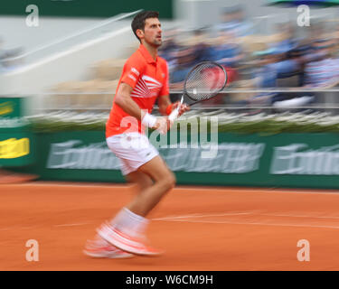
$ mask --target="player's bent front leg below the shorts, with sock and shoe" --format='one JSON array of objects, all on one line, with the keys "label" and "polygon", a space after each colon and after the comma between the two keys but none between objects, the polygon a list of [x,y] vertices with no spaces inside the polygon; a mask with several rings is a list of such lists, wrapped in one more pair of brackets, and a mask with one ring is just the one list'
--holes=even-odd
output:
[{"label": "player's bent front leg below the shorts, with sock and shoe", "polygon": [[[156,155],[141,165],[137,173],[128,175],[137,178],[139,182],[143,180],[144,184],[146,183],[144,190],[141,190],[125,208],[120,210],[114,219],[103,224],[98,233],[110,244],[129,253],[159,255],[161,252],[144,243],[149,223],[145,216],[164,197],[165,193],[174,187],[174,174],[168,169],[163,159]],[[148,179],[145,175],[154,181],[151,186],[148,186],[150,182],[146,181]]]}]

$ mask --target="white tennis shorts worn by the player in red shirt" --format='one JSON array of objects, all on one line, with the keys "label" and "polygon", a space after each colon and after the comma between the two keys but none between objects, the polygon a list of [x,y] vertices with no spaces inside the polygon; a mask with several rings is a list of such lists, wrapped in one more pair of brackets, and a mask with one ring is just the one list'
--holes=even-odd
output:
[{"label": "white tennis shorts worn by the player in red shirt", "polygon": [[120,159],[121,172],[127,175],[152,160],[159,152],[146,135],[126,133],[106,139],[109,149]]}]

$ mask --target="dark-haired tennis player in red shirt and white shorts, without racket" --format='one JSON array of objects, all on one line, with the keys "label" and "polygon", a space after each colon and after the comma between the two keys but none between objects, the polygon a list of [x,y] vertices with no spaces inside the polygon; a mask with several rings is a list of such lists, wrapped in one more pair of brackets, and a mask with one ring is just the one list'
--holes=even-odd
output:
[{"label": "dark-haired tennis player in red shirt and white shorts, without racket", "polygon": [[[179,102],[171,103],[167,63],[157,56],[162,44],[158,16],[157,12],[144,11],[133,19],[132,30],[140,46],[124,66],[106,126],[108,147],[120,159],[127,182],[137,183],[139,193],[115,218],[97,229],[96,238],[86,244],[84,252],[89,256],[161,253],[146,245],[146,216],[174,187],[175,177],[149,143],[145,129],[148,126],[165,134],[172,125],[168,116]],[[151,115],[156,100],[165,117]],[[185,104],[180,106],[179,116],[188,109]]]}]

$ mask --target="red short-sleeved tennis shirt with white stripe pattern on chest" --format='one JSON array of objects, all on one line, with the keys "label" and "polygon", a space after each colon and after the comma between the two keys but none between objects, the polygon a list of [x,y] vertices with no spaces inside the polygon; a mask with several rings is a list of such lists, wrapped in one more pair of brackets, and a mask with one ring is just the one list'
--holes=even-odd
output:
[{"label": "red short-sleeved tennis shirt with white stripe pattern on chest", "polygon": [[[154,60],[146,47],[140,44],[138,50],[124,65],[116,94],[121,82],[133,88],[131,98],[137,105],[151,113],[156,98],[169,95],[167,62],[159,56]],[[140,120],[128,115],[113,100],[113,107],[106,124],[106,137],[120,135],[127,131],[144,133],[145,127],[141,125]]]}]

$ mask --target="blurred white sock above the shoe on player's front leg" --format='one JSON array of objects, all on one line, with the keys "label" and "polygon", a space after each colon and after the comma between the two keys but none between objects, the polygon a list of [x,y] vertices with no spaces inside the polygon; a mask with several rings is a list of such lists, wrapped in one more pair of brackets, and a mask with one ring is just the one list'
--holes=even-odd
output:
[{"label": "blurred white sock above the shoe on player's front leg", "polygon": [[149,220],[135,214],[127,208],[123,208],[110,223],[114,228],[131,237],[141,237],[146,231]]}]

